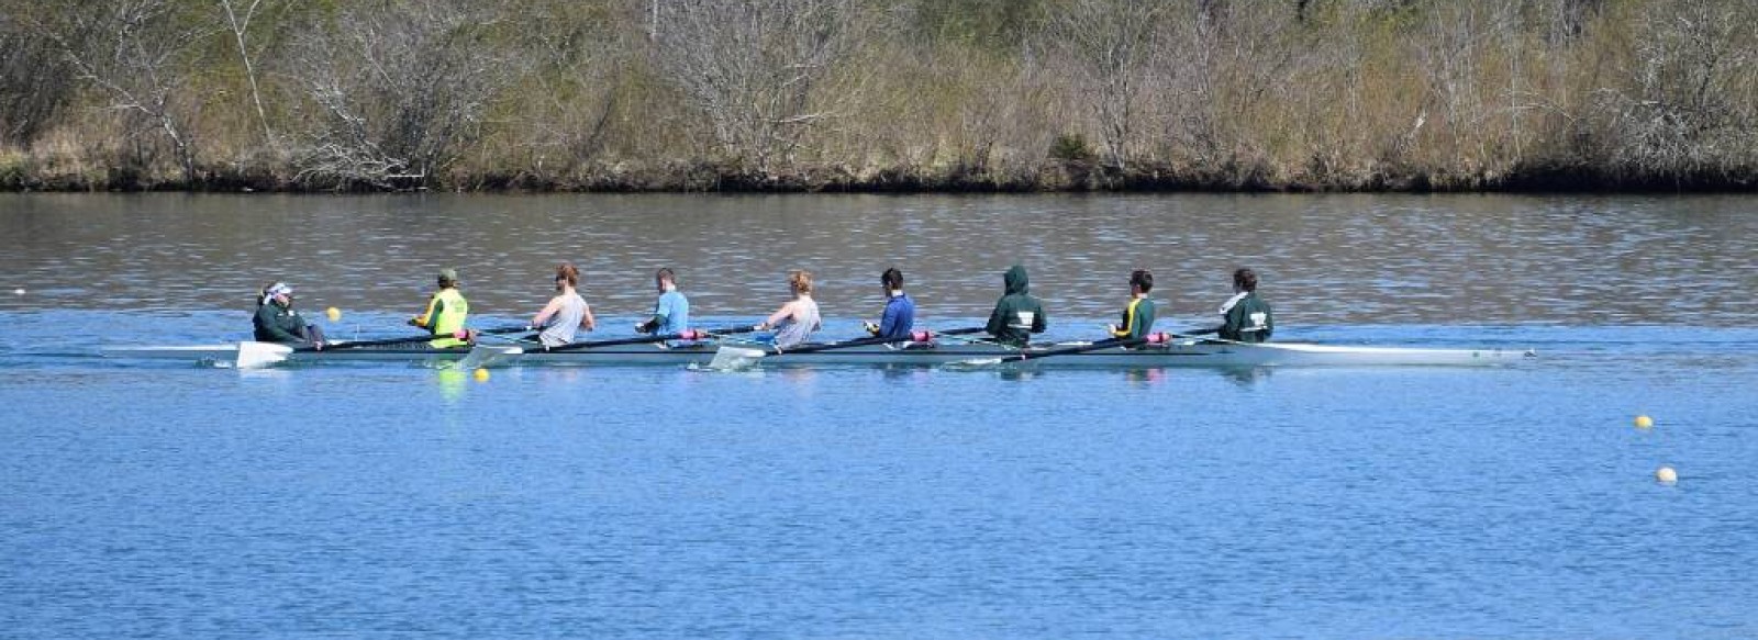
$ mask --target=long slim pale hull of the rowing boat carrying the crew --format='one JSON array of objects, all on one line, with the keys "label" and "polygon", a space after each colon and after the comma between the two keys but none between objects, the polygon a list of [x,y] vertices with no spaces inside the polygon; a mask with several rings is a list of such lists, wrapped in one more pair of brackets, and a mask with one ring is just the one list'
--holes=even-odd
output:
[{"label": "long slim pale hull of the rowing boat carrying the crew", "polygon": [[[731,341],[728,341],[731,343]],[[114,346],[102,350],[116,359],[171,359],[195,362],[236,362],[239,350],[257,343],[195,346]],[[828,343],[835,345],[835,343]],[[1136,348],[1097,348],[1071,352],[1092,343],[1042,343],[1011,348],[993,343],[890,343],[847,348],[766,353],[763,366],[942,366],[958,362],[1018,359],[1014,367],[1259,367],[1259,366],[1503,366],[1533,357],[1529,350],[1500,348],[1403,348],[1310,343],[1222,343],[1171,341]],[[721,343],[701,341],[680,346],[615,345],[603,348],[545,352],[541,346],[496,346],[496,366],[708,366]],[[809,346],[809,345],[802,345]],[[810,345],[816,346],[816,345]],[[1057,352],[1037,359],[1037,353]],[[285,353],[288,364],[320,362],[418,362],[461,360],[469,350],[420,346],[374,346]],[[724,359],[723,359],[724,360]]]}]

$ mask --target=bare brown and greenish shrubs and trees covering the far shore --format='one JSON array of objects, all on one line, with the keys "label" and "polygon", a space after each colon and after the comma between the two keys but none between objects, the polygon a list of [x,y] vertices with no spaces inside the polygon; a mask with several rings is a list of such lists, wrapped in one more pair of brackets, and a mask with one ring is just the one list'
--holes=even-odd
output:
[{"label": "bare brown and greenish shrubs and trees covering the far shore", "polygon": [[1751,0],[0,0],[0,190],[1753,192]]}]

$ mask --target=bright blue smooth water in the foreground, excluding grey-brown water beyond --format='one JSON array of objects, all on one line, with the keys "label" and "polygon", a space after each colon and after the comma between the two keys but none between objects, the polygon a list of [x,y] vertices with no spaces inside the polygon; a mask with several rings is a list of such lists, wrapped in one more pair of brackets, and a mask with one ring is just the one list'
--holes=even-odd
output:
[{"label": "bright blue smooth water in the foreground, excluding grey-brown water beyond", "polygon": [[489,382],[67,338],[236,320],[0,313],[0,635],[1758,636],[1753,329],[1290,329],[1542,353],[1498,369]]}]

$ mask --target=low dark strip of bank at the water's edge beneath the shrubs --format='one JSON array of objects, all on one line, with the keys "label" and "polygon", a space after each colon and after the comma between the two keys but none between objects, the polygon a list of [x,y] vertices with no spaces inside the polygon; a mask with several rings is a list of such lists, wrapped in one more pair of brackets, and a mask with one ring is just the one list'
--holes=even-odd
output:
[{"label": "low dark strip of bank at the water's edge beneath the shrubs", "polygon": [[311,185],[285,171],[199,169],[146,174],[128,169],[83,172],[37,169],[32,162],[0,165],[0,192],[207,192],[207,193],[1749,193],[1758,169],[1702,169],[1688,174],[1630,174],[1607,167],[1529,167],[1493,171],[1369,171],[1350,176],[1287,174],[1266,165],[1099,167],[1046,162],[1035,172],[995,174],[967,167],[807,167],[749,172],[712,164],[650,169],[594,167],[568,174],[534,171],[454,172],[443,178],[392,176],[373,183]]}]

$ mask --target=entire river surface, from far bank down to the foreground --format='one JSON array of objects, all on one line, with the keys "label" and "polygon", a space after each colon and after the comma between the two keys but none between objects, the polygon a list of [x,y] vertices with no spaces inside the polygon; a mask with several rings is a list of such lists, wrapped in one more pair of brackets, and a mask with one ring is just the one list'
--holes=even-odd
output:
[{"label": "entire river surface, from far bank down to the foreground", "polygon": [[[0,195],[0,636],[1751,638],[1758,200],[1398,195]],[[248,336],[285,280],[397,336],[556,262],[594,338],[652,269],[700,324],[904,269],[1050,338],[1157,274],[1278,339],[1535,348],[1493,369],[264,371],[102,359]],[[1653,429],[1631,420],[1651,415]],[[1679,482],[1658,484],[1661,466]]]}]

